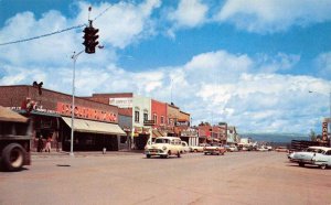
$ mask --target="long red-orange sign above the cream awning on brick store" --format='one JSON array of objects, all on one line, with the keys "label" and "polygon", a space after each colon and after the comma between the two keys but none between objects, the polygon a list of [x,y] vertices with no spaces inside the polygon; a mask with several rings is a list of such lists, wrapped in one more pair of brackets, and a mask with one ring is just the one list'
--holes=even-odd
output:
[{"label": "long red-orange sign above the cream awning on brick store", "polygon": [[[57,102],[57,112],[63,116],[72,116],[72,105]],[[103,111],[93,108],[86,108],[82,106],[75,106],[75,117],[86,118],[92,120],[117,122],[117,115],[110,111]]]}]

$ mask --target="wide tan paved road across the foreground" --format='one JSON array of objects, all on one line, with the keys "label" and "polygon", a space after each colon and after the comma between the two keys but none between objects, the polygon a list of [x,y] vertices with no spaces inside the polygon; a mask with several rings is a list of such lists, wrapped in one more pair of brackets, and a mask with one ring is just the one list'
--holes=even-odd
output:
[{"label": "wide tan paved road across the foreground", "polygon": [[331,205],[331,169],[299,168],[277,152],[33,157],[26,170],[0,172],[0,193],[3,205]]}]

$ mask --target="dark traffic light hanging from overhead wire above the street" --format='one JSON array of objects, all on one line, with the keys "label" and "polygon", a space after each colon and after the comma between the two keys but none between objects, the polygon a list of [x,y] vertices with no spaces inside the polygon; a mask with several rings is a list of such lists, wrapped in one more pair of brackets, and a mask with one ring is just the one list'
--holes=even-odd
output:
[{"label": "dark traffic light hanging from overhead wire above the street", "polygon": [[97,39],[99,37],[99,35],[97,35],[97,32],[99,30],[98,29],[94,29],[92,26],[92,21],[89,21],[89,26],[86,26],[84,29],[84,43],[83,45],[85,45],[85,53],[95,53],[95,47],[99,44],[99,42],[97,41]]}]

